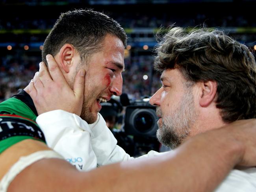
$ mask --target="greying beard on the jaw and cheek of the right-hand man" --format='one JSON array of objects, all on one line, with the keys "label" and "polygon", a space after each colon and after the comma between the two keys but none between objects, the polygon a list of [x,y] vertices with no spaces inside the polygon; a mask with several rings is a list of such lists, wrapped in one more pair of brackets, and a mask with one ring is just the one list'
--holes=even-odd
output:
[{"label": "greying beard on the jaw and cheek of the right-hand man", "polygon": [[160,107],[157,107],[156,114],[162,117],[162,123],[160,124],[158,121],[159,129],[156,132],[159,142],[174,149],[189,136],[191,126],[197,118],[193,101],[191,89],[184,94],[180,106],[175,111],[170,111],[169,114],[162,116]]}]

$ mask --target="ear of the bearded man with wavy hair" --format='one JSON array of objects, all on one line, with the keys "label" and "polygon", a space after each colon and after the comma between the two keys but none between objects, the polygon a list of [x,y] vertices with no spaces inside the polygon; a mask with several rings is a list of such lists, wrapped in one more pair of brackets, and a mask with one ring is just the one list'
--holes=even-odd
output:
[{"label": "ear of the bearded man with wavy hair", "polygon": [[200,82],[201,93],[199,103],[201,107],[207,107],[214,101],[217,93],[217,86],[216,81]]}]

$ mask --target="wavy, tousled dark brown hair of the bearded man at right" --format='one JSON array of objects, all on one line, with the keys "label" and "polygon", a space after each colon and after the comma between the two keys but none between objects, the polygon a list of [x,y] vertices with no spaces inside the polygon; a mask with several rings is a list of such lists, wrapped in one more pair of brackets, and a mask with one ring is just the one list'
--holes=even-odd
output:
[{"label": "wavy, tousled dark brown hair of the bearded man at right", "polygon": [[223,31],[171,28],[156,47],[154,67],[180,68],[188,81],[216,81],[216,107],[224,122],[256,117],[256,64],[245,44]]}]

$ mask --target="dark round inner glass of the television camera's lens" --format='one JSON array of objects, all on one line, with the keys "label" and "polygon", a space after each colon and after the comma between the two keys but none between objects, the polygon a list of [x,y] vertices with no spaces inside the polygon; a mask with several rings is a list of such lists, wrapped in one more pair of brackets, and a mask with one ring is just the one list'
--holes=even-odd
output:
[{"label": "dark round inner glass of the television camera's lens", "polygon": [[153,125],[153,119],[151,114],[142,112],[135,116],[134,125],[138,131],[145,132]]}]

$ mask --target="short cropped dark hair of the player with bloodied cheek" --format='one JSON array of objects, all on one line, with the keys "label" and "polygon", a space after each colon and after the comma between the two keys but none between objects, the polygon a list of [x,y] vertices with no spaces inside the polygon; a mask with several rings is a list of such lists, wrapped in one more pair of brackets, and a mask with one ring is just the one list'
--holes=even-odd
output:
[{"label": "short cropped dark hair of the player with bloodied cheek", "polygon": [[56,55],[61,47],[72,44],[79,52],[82,60],[102,47],[107,34],[115,35],[126,46],[127,36],[118,22],[107,15],[92,9],[75,9],[62,13],[45,39],[42,59],[46,55]]}]

